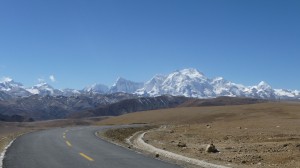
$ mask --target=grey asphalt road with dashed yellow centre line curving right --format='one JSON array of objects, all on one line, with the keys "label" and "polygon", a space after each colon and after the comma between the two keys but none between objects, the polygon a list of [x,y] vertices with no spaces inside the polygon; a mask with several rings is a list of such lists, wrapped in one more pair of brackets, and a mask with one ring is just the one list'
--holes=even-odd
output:
[{"label": "grey asphalt road with dashed yellow centre line curving right", "polygon": [[99,139],[95,132],[104,128],[58,128],[21,136],[8,149],[3,168],[179,167]]}]

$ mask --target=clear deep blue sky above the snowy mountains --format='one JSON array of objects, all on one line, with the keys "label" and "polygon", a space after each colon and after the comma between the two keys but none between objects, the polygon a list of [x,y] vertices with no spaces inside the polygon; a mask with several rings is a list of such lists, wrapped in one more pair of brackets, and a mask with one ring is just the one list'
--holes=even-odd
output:
[{"label": "clear deep blue sky above the snowy mountains", "polygon": [[80,89],[192,67],[300,90],[299,63],[298,0],[0,1],[0,77],[26,86]]}]

